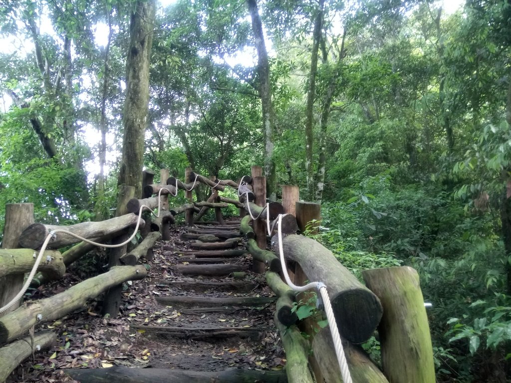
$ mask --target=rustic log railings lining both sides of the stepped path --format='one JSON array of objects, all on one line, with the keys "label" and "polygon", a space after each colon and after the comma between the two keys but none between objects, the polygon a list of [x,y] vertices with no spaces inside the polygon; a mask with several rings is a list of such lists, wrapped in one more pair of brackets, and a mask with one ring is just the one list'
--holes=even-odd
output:
[{"label": "rustic log railings lining both sides of the stepped path", "polygon": [[[107,273],[87,279],[55,297],[38,301],[30,308],[20,307],[11,313],[4,314],[3,317],[0,314],[0,345],[9,343],[27,333],[36,322],[44,323],[55,320],[75,309],[77,305],[83,304],[86,299],[97,296],[106,290],[115,291],[115,286],[120,286],[126,280],[144,278],[147,273],[146,269],[137,265],[138,262],[151,257],[152,246],[160,237],[164,240],[169,238],[169,228],[174,223],[174,217],[177,214],[185,212],[185,223],[192,226],[207,209],[213,208],[217,222],[223,223],[221,209],[233,205],[240,209],[240,216],[243,217],[240,232],[245,237],[246,248],[254,259],[252,269],[259,273],[266,272],[267,283],[278,297],[275,322],[276,327],[281,331],[281,339],[287,354],[289,382],[341,380],[339,368],[335,363],[337,357],[334,345],[329,333],[320,329],[317,323],[310,318],[302,321],[297,320],[296,293],[283,282],[279,275],[283,271],[280,253],[276,250],[279,241],[275,234],[278,229],[277,218],[279,217],[280,230],[284,235],[282,247],[288,262],[287,268],[289,268],[291,281],[301,285],[306,280],[314,280],[320,281],[328,287],[328,295],[332,302],[336,322],[335,324],[330,323],[330,326],[336,326],[341,334],[353,381],[387,382],[385,375],[392,376],[392,381],[424,383],[434,381],[431,380],[431,376],[434,379],[434,370],[431,374],[432,366],[429,366],[432,364],[430,363],[432,360],[430,358],[430,356],[432,357],[431,341],[428,330],[424,330],[424,327],[427,326],[427,317],[421,304],[417,303],[417,300],[421,299],[421,295],[416,279],[412,278],[412,282],[406,284],[406,289],[414,291],[412,301],[404,298],[410,296],[411,293],[408,290],[392,290],[391,294],[393,295],[390,295],[388,289],[382,288],[382,285],[388,286],[393,283],[391,278],[394,275],[398,276],[396,278],[402,278],[403,274],[399,272],[368,272],[364,274],[369,286],[367,288],[345,269],[328,249],[306,236],[296,234],[300,230],[304,231],[309,222],[314,220],[319,222],[319,205],[298,201],[299,193],[296,186],[284,186],[282,204],[278,202],[266,203],[265,179],[262,177],[260,167],[252,167],[252,174],[243,177],[239,182],[218,180],[216,177],[207,178],[192,172],[191,169],[187,169],[186,174],[188,177],[183,182],[174,177],[168,177],[168,171],[162,170],[161,179],[165,180],[166,184],[154,184],[154,173],[145,171],[141,198],[135,197],[123,202],[123,206],[118,206],[118,213],[122,211],[124,214],[118,214],[117,217],[109,220],[84,222],[71,226],[53,226],[31,224],[33,218],[29,217],[23,221],[21,229],[13,230],[13,233],[17,233],[15,234],[17,240],[13,244],[19,244],[20,247],[27,249],[0,251],[0,276],[23,275],[28,272],[34,261],[34,251],[30,249],[41,248],[48,235],[51,235],[47,248],[53,250],[46,250],[43,253],[45,260],[32,282],[35,286],[62,277],[65,267],[94,248],[95,245],[81,242],[77,236],[99,244],[106,244],[108,241],[120,243],[132,233],[133,227],[136,226],[143,229],[142,233],[145,239],[135,249],[114,253],[114,257],[111,257],[110,271]],[[211,197],[206,201],[193,201],[191,197],[192,190],[196,189],[199,184],[206,185],[212,190]],[[219,195],[219,192],[224,192],[228,187],[238,189],[238,199]],[[189,201],[181,206],[173,206],[172,197],[176,196],[179,190],[185,191]],[[169,198],[171,198],[170,203]],[[143,219],[141,212],[148,209],[158,209],[157,216]],[[196,214],[195,220],[194,214]],[[12,224],[9,227],[12,230]],[[74,235],[61,232],[62,230]],[[193,231],[193,228],[189,229],[187,235],[190,238],[198,235]],[[150,232],[153,233],[149,234]],[[219,228],[212,235],[225,239],[232,238],[237,234]],[[270,238],[275,252],[266,248]],[[227,244],[234,246],[234,242]],[[58,251],[58,249],[69,245],[74,246],[63,253]],[[204,252],[216,251],[207,246],[212,245],[205,244],[201,250]],[[10,247],[18,246],[11,245]],[[226,251],[236,252],[236,250]],[[17,260],[15,265],[12,262],[13,258]],[[384,275],[385,283],[379,281],[378,278],[382,278],[381,275]],[[417,293],[417,289],[419,289],[419,293]],[[81,291],[87,291],[87,295],[83,295]],[[313,297],[310,293],[300,293],[300,298],[307,300]],[[110,299],[113,299],[113,304],[109,304],[110,307],[113,307],[113,312],[110,315],[117,315],[115,307],[119,307],[119,303],[115,303],[115,299],[120,299],[120,293],[119,297]],[[389,302],[390,300],[402,303],[399,304],[399,307],[395,307]],[[61,304],[62,301],[72,303]],[[5,301],[0,301],[0,306],[5,303]],[[382,305],[382,303],[384,304]],[[386,305],[389,307],[387,308]],[[406,318],[401,318],[402,321],[399,321],[399,325],[393,324],[398,321],[392,320],[392,317],[388,319],[387,309],[391,315],[398,313]],[[383,324],[380,323],[382,315]],[[407,320],[415,321],[416,318],[421,318],[422,328],[410,328],[404,324]],[[383,357],[384,373],[356,346],[356,344],[367,341],[376,330],[385,331],[385,338],[392,338],[392,341],[388,341],[388,343],[386,339],[381,339],[382,350],[385,352]],[[309,333],[309,340],[305,340],[301,336],[304,331]],[[52,338],[48,339],[50,342]],[[415,349],[420,349],[421,355],[408,355],[410,353],[403,352],[403,348],[400,349],[403,342],[409,342]],[[314,351],[311,358],[309,357],[310,349]],[[24,356],[20,356],[18,363],[27,356],[26,354],[27,352],[22,353]],[[395,357],[397,354],[399,354],[398,358]],[[311,360],[310,369],[307,368],[309,360]],[[419,366],[420,360],[427,361],[428,366],[426,368]],[[2,367],[1,364],[0,367]],[[412,372],[407,374],[403,372],[405,370]],[[312,371],[312,374],[309,371]],[[426,372],[421,373],[421,371]],[[5,371],[0,372],[5,373]]]}]

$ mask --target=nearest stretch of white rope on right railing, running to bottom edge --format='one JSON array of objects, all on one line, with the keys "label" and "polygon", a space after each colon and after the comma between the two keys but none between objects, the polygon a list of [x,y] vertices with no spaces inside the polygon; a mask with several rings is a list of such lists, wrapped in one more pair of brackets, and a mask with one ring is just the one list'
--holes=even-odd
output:
[{"label": "nearest stretch of white rope on right railing, running to bottom edge", "polygon": [[328,323],[330,325],[330,333],[332,334],[332,340],[334,341],[335,353],[337,354],[337,362],[339,363],[339,368],[341,370],[341,376],[343,383],[352,383],[352,378],[350,374],[350,369],[348,368],[348,364],[346,362],[346,356],[344,355],[344,349],[342,348],[341,337],[339,335],[339,329],[337,328],[337,323],[335,322],[334,310],[332,309],[332,303],[330,302],[330,297],[328,296],[327,286],[322,282],[310,282],[305,286],[297,286],[291,279],[289,278],[289,273],[286,267],[286,260],[284,259],[284,247],[282,245],[282,214],[278,215],[278,252],[281,258],[282,272],[286,279],[287,284],[291,289],[297,292],[304,292],[307,290],[311,290],[316,288],[321,296],[324,306],[324,312],[327,315]]}]

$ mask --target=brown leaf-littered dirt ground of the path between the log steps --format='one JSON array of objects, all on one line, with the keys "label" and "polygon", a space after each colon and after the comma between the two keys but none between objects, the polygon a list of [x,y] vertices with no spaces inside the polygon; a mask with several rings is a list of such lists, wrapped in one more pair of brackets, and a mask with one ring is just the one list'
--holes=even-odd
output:
[{"label": "brown leaf-littered dirt ground of the path between the log steps", "polygon": [[[274,302],[260,307],[234,307],[222,312],[203,312],[200,308],[194,310],[177,304],[167,306],[156,301],[156,297],[165,295],[211,298],[273,295],[264,276],[250,272],[245,276],[249,290],[245,289],[244,293],[189,288],[187,282],[193,280],[229,281],[233,278],[190,278],[179,274],[176,265],[182,265],[183,261],[177,253],[164,250],[164,246],[187,249],[188,243],[179,237],[182,231],[184,229],[179,227],[173,229],[170,241],[155,245],[154,258],[147,262],[149,275],[146,278],[125,284],[118,317],[101,316],[100,296],[89,302],[83,310],[36,328],[56,332],[56,345],[21,364],[7,383],[74,382],[63,369],[111,366],[190,371],[282,369],[285,355],[273,323]],[[240,243],[239,248],[244,248],[244,244]],[[247,266],[252,262],[249,255],[229,258],[228,261]],[[71,271],[63,279],[39,288],[31,299],[52,296],[79,281],[76,273]],[[178,281],[183,283],[176,284]],[[155,326],[156,330],[135,328],[137,326]],[[165,326],[183,328],[183,331],[169,335],[163,328]],[[200,331],[216,327],[257,328],[258,331],[247,331],[248,335],[209,338]]]}]

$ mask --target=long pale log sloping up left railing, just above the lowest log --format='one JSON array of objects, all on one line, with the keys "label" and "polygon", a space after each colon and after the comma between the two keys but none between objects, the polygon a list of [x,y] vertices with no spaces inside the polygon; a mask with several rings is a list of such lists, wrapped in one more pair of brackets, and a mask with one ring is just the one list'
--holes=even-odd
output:
[{"label": "long pale log sloping up left railing, just above the lowest log", "polygon": [[97,297],[111,286],[147,275],[143,266],[118,266],[96,277],[80,282],[50,298],[28,302],[0,318],[0,344],[8,343],[26,333],[32,326],[62,318],[83,308],[87,300]]}]

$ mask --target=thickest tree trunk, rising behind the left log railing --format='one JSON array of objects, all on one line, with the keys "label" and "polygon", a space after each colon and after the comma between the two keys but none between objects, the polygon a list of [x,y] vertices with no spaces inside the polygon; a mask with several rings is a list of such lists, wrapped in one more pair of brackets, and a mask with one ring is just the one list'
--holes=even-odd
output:
[{"label": "thickest tree trunk, rising behind the left log railing", "polygon": [[134,186],[135,196],[141,196],[144,135],[149,103],[149,61],[155,29],[155,0],[138,0],[133,7],[126,62],[124,136],[118,184]]}]

